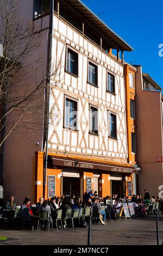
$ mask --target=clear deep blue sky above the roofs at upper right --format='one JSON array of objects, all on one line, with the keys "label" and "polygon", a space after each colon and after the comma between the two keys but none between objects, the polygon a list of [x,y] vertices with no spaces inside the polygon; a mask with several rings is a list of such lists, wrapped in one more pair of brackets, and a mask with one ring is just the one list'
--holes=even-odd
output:
[{"label": "clear deep blue sky above the roofs at upper right", "polygon": [[134,48],[124,52],[124,60],[141,65],[163,89],[163,0],[81,1]]}]

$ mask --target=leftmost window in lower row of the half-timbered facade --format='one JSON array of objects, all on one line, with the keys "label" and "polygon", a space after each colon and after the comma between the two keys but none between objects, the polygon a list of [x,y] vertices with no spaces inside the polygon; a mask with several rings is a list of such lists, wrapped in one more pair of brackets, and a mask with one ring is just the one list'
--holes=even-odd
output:
[{"label": "leftmost window in lower row of the half-timbered facade", "polygon": [[65,127],[77,130],[77,102],[66,98]]}]

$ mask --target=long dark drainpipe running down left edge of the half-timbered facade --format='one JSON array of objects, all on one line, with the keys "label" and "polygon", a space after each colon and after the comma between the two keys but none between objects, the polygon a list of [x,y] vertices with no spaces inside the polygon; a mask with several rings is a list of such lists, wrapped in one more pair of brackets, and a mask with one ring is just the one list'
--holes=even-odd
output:
[{"label": "long dark drainpipe running down left edge of the half-timbered facade", "polygon": [[51,67],[52,67],[52,41],[53,41],[53,13],[54,13],[54,0],[51,0],[51,15],[49,18],[49,33],[48,33],[48,66],[47,66],[47,116],[46,116],[46,150],[45,162],[43,172],[43,198],[45,198],[45,191],[47,186],[47,161],[48,161],[48,125],[49,125],[49,98],[51,91]]}]

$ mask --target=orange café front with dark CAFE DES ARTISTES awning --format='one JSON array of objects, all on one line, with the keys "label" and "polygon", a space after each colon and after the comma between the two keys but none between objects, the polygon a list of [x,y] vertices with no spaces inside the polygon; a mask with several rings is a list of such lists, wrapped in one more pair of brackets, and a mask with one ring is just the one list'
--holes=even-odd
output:
[{"label": "orange caf\u00e9 front with dark CAFE DES ARTISTES awning", "polygon": [[[35,180],[35,198],[42,196],[43,191],[43,168],[38,168],[41,167],[39,155],[42,156],[43,164],[43,154],[38,153],[35,179],[42,177],[42,180]],[[135,186],[133,173],[137,174],[137,170],[127,164],[120,165],[89,157],[49,154],[45,197],[49,198],[52,194],[59,197],[67,194],[77,195],[83,199],[84,193],[93,189],[102,198],[111,197],[113,194],[118,194],[121,198],[130,198]],[[55,176],[53,184],[49,184],[51,176]],[[53,192],[49,193],[49,190]]]}]

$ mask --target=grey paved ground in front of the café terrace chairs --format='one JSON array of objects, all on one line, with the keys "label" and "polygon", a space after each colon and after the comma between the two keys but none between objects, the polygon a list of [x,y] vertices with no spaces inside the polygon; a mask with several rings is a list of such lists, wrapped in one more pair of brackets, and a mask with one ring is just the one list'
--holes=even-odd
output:
[{"label": "grey paved ground in front of the caf\u00e9 terrace chairs", "polygon": [[[160,244],[163,241],[163,216],[159,217]],[[0,224],[0,236],[7,241],[0,245],[87,245],[87,228],[67,230],[30,231],[11,230]],[[137,218],[121,222],[112,221],[106,226],[91,225],[92,245],[156,245],[155,217]]]}]

